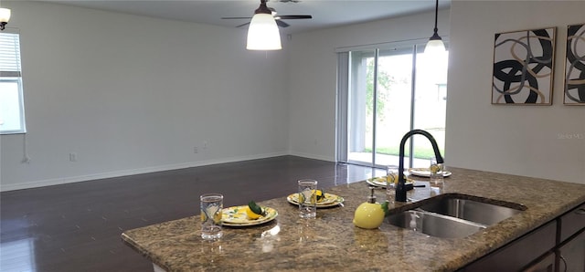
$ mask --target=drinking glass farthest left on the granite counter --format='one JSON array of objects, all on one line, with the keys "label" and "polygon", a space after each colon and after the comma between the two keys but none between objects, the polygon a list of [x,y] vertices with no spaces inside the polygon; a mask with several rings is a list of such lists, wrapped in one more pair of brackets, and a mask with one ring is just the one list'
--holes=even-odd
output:
[{"label": "drinking glass farthest left on the granite counter", "polygon": [[221,231],[222,194],[202,194],[201,200],[201,238],[217,240],[223,235]]}]

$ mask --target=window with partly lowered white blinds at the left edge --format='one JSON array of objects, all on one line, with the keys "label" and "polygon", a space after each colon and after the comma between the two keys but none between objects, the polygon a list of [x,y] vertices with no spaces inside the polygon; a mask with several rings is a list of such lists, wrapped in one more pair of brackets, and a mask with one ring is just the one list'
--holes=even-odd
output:
[{"label": "window with partly lowered white blinds at the left edge", "polygon": [[25,133],[20,37],[0,33],[0,134]]}]

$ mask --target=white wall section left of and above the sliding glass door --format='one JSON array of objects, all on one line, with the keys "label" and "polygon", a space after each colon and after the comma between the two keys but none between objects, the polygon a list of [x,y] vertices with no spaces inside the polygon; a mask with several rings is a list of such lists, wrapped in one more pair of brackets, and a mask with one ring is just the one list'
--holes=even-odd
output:
[{"label": "white wall section left of and above the sliding glass door", "polygon": [[[434,11],[294,35],[289,48],[290,150],[335,161],[335,48],[356,47],[432,35]],[[449,36],[449,11],[439,11],[439,34]]]}]

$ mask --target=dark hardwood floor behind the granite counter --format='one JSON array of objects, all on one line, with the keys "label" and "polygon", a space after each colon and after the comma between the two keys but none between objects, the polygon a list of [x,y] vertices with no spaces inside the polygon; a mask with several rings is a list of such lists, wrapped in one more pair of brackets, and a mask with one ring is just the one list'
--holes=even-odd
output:
[{"label": "dark hardwood floor behind the granite counter", "polygon": [[373,171],[282,156],[3,192],[0,271],[152,271],[120,235],[199,214],[200,194],[224,194],[231,206],[286,196],[302,178],[328,188]]}]

